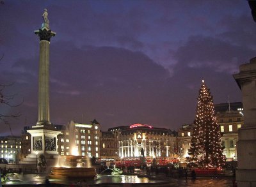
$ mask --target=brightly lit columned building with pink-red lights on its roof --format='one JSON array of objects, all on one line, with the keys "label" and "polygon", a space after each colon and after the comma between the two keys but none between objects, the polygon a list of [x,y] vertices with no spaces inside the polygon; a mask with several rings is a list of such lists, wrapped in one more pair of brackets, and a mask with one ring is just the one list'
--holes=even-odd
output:
[{"label": "brightly lit columned building with pink-red lights on its roof", "polygon": [[175,156],[176,137],[171,130],[154,128],[147,124],[132,124],[112,130],[119,133],[118,156],[122,159],[145,156],[146,159],[152,160],[153,158],[174,158]]}]

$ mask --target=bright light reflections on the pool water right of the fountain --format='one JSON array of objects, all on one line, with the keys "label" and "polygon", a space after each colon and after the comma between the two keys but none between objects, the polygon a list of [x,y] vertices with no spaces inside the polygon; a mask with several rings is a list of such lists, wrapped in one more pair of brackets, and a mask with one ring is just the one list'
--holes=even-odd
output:
[{"label": "bright light reflections on the pool water right of the fountain", "polygon": [[111,176],[111,175],[99,175],[95,179],[95,184],[99,183],[157,183],[160,181],[151,180],[147,177],[138,177],[138,176]]}]

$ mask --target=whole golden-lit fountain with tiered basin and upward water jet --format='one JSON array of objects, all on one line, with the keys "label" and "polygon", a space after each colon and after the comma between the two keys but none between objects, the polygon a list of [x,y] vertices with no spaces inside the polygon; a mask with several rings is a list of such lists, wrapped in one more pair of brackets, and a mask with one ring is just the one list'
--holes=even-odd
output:
[{"label": "whole golden-lit fountain with tiered basin and upward water jet", "polygon": [[94,178],[96,170],[92,167],[88,156],[79,155],[76,146],[76,129],[74,123],[69,123],[65,131],[69,138],[70,153],[59,156],[55,167],[51,168],[51,178]]}]

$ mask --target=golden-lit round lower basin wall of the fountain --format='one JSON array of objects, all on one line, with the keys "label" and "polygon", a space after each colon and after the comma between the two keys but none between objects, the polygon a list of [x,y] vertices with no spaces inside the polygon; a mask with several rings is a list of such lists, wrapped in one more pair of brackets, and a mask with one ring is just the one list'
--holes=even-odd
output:
[{"label": "golden-lit round lower basin wall of the fountain", "polygon": [[51,179],[83,178],[94,179],[96,170],[94,167],[52,167]]}]

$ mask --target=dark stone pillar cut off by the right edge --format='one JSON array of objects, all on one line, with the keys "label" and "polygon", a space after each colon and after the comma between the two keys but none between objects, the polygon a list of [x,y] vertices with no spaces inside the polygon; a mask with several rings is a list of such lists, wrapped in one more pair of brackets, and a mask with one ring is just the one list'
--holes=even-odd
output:
[{"label": "dark stone pillar cut off by the right edge", "polygon": [[256,57],[233,75],[242,91],[244,126],[238,130],[236,181],[239,187],[256,186]]}]

